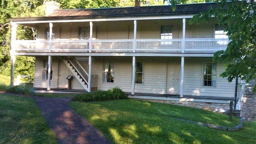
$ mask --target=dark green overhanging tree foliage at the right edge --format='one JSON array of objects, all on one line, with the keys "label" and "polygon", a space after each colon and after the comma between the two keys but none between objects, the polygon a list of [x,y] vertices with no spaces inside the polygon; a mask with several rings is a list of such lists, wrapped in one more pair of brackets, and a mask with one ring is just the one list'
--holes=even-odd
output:
[{"label": "dark green overhanging tree foliage at the right edge", "polygon": [[216,52],[213,59],[226,65],[220,76],[229,82],[236,76],[246,82],[256,80],[256,1],[216,0],[216,4],[218,8],[194,16],[191,22],[208,21],[214,16],[219,24],[227,24],[225,31],[231,42],[226,50]]}]

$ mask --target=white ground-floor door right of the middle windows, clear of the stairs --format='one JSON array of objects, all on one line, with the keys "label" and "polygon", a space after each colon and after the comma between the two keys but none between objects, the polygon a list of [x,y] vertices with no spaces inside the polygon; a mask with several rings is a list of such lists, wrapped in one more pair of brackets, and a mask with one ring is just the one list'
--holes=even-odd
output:
[{"label": "white ground-floor door right of the middle windows, clear of the stairs", "polygon": [[167,64],[166,93],[179,94],[180,92],[180,62],[172,61]]}]

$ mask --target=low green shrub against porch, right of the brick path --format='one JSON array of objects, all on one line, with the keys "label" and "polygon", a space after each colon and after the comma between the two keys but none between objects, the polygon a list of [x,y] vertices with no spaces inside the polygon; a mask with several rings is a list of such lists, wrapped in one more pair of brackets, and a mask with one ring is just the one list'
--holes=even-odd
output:
[{"label": "low green shrub against porch, right of the brick path", "polygon": [[95,92],[88,92],[83,94],[76,94],[72,98],[74,101],[92,102],[103,100],[118,100],[128,98],[126,94],[119,88],[115,87],[108,91],[96,90]]}]

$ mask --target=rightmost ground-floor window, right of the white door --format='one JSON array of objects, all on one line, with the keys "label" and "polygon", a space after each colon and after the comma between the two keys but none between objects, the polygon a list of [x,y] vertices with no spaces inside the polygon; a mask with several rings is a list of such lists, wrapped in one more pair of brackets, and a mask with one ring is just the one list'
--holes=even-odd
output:
[{"label": "rightmost ground-floor window, right of the white door", "polygon": [[[211,69],[210,74],[208,72],[209,68],[207,68],[208,64],[212,65],[211,68],[210,68]],[[203,65],[202,66],[203,67],[202,68],[202,86],[203,87],[216,88],[216,85],[217,85],[217,63],[204,62],[202,65]],[[208,83],[208,82],[210,82],[210,83]]]}]

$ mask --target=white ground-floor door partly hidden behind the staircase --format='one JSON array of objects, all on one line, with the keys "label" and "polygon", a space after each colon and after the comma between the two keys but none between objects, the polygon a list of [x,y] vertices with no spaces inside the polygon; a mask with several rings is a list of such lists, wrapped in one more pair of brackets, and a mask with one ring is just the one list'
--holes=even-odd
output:
[{"label": "white ground-floor door partly hidden behind the staircase", "polygon": [[68,88],[68,67],[62,62],[59,61],[59,77],[58,77],[58,88]]}]

